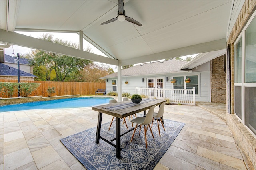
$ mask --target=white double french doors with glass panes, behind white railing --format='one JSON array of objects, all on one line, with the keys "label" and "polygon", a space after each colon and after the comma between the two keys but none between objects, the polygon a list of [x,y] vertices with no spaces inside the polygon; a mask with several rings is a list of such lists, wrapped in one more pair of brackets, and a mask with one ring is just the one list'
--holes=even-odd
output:
[{"label": "white double french doors with glass panes, behind white railing", "polygon": [[164,88],[164,77],[147,78],[147,88],[149,88],[148,96],[158,97],[160,95],[160,97],[163,97],[163,91],[160,90],[160,94],[158,94],[158,88]]}]

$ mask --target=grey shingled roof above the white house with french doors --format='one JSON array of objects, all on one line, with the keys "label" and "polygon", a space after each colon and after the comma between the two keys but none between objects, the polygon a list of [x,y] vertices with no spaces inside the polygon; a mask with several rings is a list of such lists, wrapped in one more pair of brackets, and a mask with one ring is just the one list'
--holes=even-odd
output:
[{"label": "grey shingled roof above the white house with french doors", "polygon": [[[144,63],[122,70],[122,76],[153,75],[181,72],[184,70],[179,69],[180,66],[186,63],[186,61],[179,61],[175,59]],[[110,77],[117,77],[117,73],[106,75],[104,77],[101,77],[101,79],[106,79]]]}]

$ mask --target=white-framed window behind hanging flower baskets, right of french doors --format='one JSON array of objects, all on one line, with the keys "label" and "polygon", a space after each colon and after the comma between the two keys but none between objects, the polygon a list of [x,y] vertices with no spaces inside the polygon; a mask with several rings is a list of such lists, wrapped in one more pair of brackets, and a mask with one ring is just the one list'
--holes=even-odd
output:
[{"label": "white-framed window behind hanging flower baskets, right of french doors", "polygon": [[[193,87],[195,87],[195,93],[198,95],[198,75],[179,76],[173,78],[176,79],[176,83],[173,83],[174,89],[193,89]],[[190,83],[185,82],[185,79],[187,78],[191,79]]]}]

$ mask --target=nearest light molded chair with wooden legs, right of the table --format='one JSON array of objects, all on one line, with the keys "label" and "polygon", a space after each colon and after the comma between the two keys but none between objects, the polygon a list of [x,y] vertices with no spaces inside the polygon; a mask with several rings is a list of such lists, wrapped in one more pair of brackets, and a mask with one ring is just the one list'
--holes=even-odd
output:
[{"label": "nearest light molded chair with wooden legs, right of the table", "polygon": [[[151,132],[151,134],[153,136],[153,139],[155,140],[154,134],[152,132],[152,128],[150,127],[150,123],[152,123],[155,107],[156,106],[150,107],[150,109],[148,110],[148,113],[146,114],[146,117],[137,117],[137,118],[131,120],[132,123],[136,123],[136,126],[134,128],[134,132],[132,134],[132,139],[134,137],[134,134],[135,134],[135,131],[136,131],[137,127],[138,127],[138,124],[140,125],[140,130],[141,130],[142,125],[144,126],[146,148],[148,148],[148,143],[147,143],[147,131],[148,131],[148,128],[150,129],[150,132]],[[140,135],[140,132],[139,132],[139,135]],[[132,139],[131,139],[131,142],[132,142]]]}]

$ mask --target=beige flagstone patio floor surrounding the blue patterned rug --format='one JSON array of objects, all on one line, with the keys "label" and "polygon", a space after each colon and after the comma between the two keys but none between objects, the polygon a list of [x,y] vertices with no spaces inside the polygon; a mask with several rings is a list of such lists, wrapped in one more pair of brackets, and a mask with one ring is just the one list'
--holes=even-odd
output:
[{"label": "beige flagstone patio floor surrounding the blue patterned rug", "polygon": [[[226,105],[199,105],[165,106],[164,119],[186,125],[154,170],[246,170],[223,119]],[[111,119],[103,114],[103,123]],[[84,170],[60,138],[95,127],[97,120],[91,107],[1,112],[0,169]]]}]

